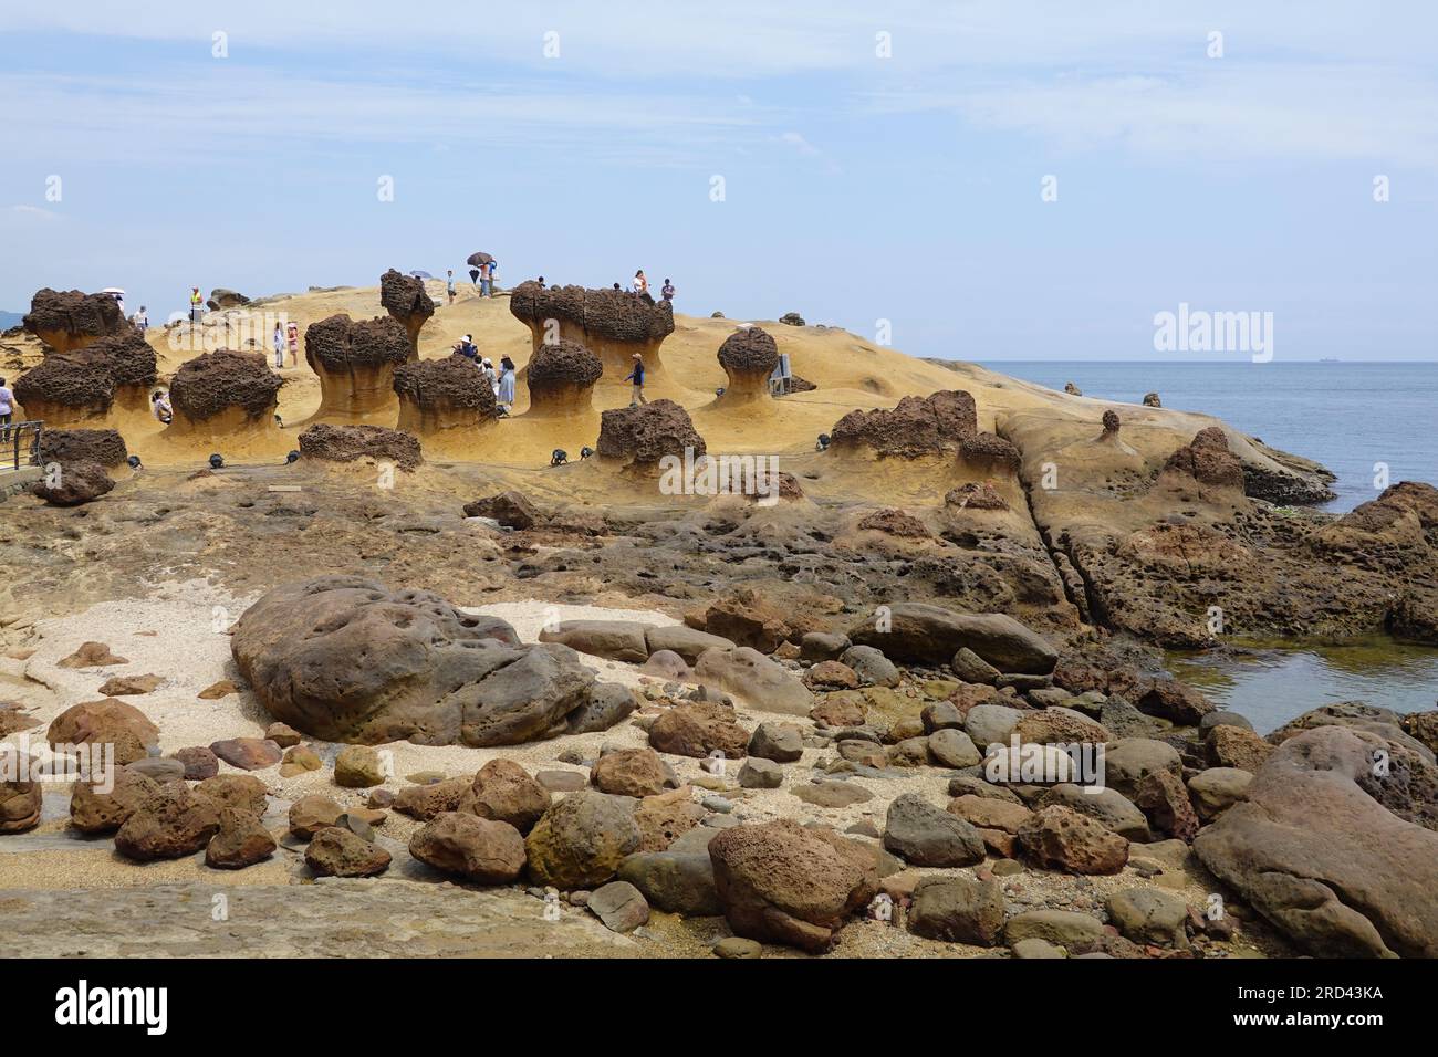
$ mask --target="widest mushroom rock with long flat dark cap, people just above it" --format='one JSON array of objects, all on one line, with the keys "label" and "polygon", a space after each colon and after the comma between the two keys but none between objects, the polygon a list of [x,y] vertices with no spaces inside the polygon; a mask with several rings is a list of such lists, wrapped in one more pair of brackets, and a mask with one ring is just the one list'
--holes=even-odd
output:
[{"label": "widest mushroom rock with long flat dark cap, people just above it", "polygon": [[529,326],[535,352],[557,339],[577,341],[600,358],[613,384],[623,384],[636,352],[644,357],[647,374],[659,375],[664,368],[659,347],[674,332],[674,311],[667,301],[624,290],[544,288],[529,280],[513,289],[509,311]]}]

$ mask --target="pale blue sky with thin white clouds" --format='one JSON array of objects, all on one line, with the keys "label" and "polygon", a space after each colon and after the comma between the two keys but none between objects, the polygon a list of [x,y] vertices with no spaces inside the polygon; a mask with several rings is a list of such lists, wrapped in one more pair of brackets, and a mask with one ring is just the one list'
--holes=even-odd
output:
[{"label": "pale blue sky with thin white clouds", "polygon": [[475,250],[949,360],[1438,360],[1438,4],[0,7],[0,309]]}]

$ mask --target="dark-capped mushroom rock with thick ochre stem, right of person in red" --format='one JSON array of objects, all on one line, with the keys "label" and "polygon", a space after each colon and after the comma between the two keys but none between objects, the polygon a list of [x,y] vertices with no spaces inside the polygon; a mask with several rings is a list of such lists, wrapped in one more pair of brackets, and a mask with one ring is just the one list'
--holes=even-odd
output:
[{"label": "dark-capped mushroom rock with thick ochre stem, right of person in red", "polygon": [[305,329],[305,362],[319,375],[319,410],[311,421],[394,420],[394,371],[410,361],[410,337],[390,318],[355,322],[339,314]]}]

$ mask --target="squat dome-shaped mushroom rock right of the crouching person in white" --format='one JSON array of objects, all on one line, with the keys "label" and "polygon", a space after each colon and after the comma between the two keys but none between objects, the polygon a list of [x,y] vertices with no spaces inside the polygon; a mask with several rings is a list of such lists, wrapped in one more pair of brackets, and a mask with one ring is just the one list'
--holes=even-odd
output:
[{"label": "squat dome-shaped mushroom rock right of the crouching person in white", "polygon": [[165,433],[273,431],[280,384],[262,352],[219,349],[187,360],[170,383],[174,418]]}]

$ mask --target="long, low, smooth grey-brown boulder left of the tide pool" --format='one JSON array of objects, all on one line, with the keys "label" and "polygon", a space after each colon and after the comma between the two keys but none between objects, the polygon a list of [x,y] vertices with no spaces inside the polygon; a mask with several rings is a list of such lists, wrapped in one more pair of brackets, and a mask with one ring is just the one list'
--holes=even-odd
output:
[{"label": "long, low, smooth grey-brown boulder left of the tide pool", "polygon": [[894,603],[877,623],[870,617],[848,637],[923,664],[946,664],[963,647],[1002,672],[1048,674],[1058,659],[1040,634],[1002,613],[953,613],[925,603]]}]

